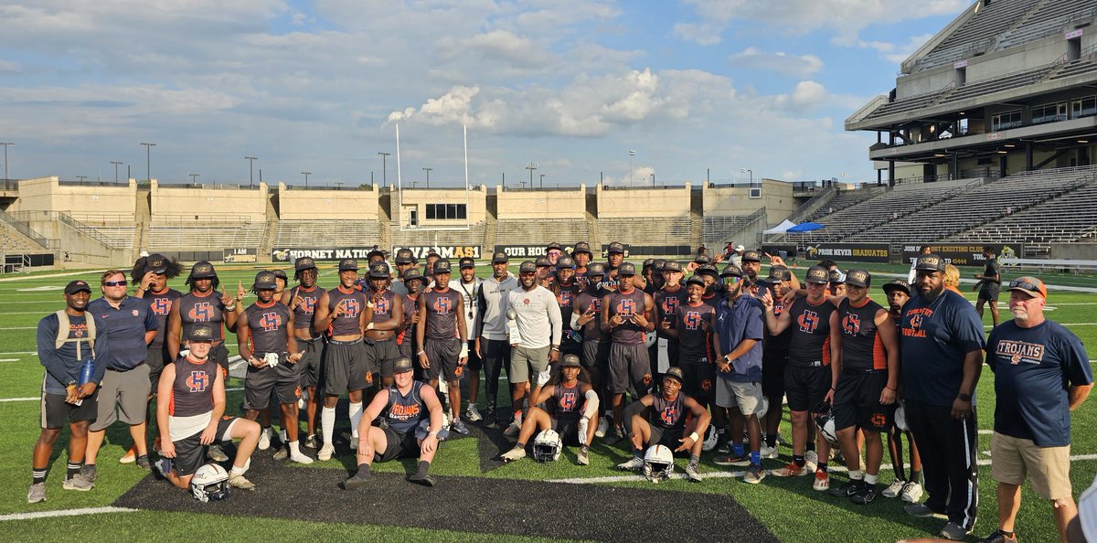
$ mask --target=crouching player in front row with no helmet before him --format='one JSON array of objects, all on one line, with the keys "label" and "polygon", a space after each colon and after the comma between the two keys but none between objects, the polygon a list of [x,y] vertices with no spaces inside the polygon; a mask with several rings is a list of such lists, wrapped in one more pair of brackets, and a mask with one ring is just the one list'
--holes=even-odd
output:
[{"label": "crouching player in front row with no helmet before him", "polygon": [[[442,404],[438,393],[426,383],[411,378],[415,366],[411,359],[399,358],[393,362],[394,384],[377,393],[365,409],[359,423],[358,473],[343,482],[343,488],[353,490],[364,486],[372,476],[370,465],[418,455],[419,465],[408,480],[423,486],[434,486],[427,471],[438,452],[438,433],[442,429]],[[373,426],[373,419],[385,412],[388,428]],[[429,420],[429,428],[422,428]],[[443,435],[444,437],[444,435]]]}]

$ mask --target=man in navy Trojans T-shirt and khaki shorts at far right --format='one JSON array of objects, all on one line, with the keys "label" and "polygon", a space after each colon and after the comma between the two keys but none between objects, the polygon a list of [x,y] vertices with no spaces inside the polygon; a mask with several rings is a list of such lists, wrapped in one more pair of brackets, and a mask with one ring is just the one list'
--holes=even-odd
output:
[{"label": "man in navy Trojans T-shirt and khaki shorts at far right", "polygon": [[991,477],[998,482],[998,529],[981,541],[1017,541],[1014,521],[1026,475],[1032,490],[1051,500],[1062,541],[1078,514],[1071,494],[1070,411],[1085,401],[1094,378],[1082,340],[1044,318],[1047,299],[1039,279],[1015,279],[1014,319],[992,330],[986,342],[996,400]]}]

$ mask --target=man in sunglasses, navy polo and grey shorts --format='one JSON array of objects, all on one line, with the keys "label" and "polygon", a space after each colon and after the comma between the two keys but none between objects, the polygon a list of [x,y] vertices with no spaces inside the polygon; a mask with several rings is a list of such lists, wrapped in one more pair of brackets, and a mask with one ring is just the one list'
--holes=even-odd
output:
[{"label": "man in sunglasses, navy polo and grey shorts", "polygon": [[160,325],[148,301],[126,294],[127,285],[124,273],[109,270],[101,279],[103,297],[88,304],[88,312],[106,324],[111,342],[106,374],[99,391],[99,416],[88,429],[88,454],[81,472],[92,479],[106,427],[116,420],[129,425],[137,465],[149,468],[145,419],[151,383],[145,358]]}]

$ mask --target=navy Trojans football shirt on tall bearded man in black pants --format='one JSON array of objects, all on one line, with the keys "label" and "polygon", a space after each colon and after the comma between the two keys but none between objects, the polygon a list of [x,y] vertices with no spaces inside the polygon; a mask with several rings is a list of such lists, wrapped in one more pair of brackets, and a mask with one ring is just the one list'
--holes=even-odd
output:
[{"label": "navy Trojans football shirt on tall bearded man in black pants", "polygon": [[911,298],[900,319],[904,396],[951,407],[960,395],[964,357],[983,346],[983,320],[960,294],[945,290],[932,302],[920,295]]}]

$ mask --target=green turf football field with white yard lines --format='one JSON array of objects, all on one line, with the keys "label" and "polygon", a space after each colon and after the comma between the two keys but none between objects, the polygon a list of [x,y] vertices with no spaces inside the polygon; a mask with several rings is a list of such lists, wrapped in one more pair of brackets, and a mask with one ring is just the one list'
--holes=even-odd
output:
[{"label": "green turf football field with white yard lines", "polygon": [[[220,272],[223,284],[235,289],[238,281],[250,283],[256,268],[235,268]],[[881,272],[905,273],[905,267],[880,267]],[[975,270],[964,269],[968,276]],[[796,270],[803,274],[803,268]],[[291,271],[292,274],[292,271]],[[184,273],[185,275],[185,273]],[[1007,280],[1015,274],[1007,276]],[[83,516],[22,518],[24,513],[41,511],[68,511],[83,508],[110,508],[123,494],[135,487],[142,479],[149,476],[134,464],[122,465],[117,459],[129,446],[128,431],[122,426],[114,426],[108,431],[108,440],[100,453],[99,477],[97,487],[89,493],[77,493],[61,489],[65,472],[66,454],[61,451],[67,444],[67,432],[63,434],[55,450],[50,475],[47,482],[48,501],[27,505],[26,489],[31,482],[31,451],[38,434],[38,394],[43,377],[43,369],[35,351],[35,327],[44,315],[64,307],[61,289],[71,279],[80,278],[91,284],[99,283],[99,273],[89,271],[79,275],[47,276],[0,276],[0,369],[4,378],[0,380],[0,419],[5,420],[7,429],[3,440],[0,440],[0,529],[8,533],[2,538],[9,541],[29,540],[61,540],[80,541],[112,539],[124,536],[143,538],[152,541],[179,540],[193,538],[194,533],[225,533],[216,531],[217,527],[231,525],[229,540],[271,540],[274,538],[292,538],[308,535],[351,536],[358,538],[402,538],[411,541],[498,541],[520,540],[516,535],[491,533],[489,529],[468,525],[463,531],[430,530],[422,528],[391,528],[362,523],[331,523],[319,520],[289,520],[272,514],[271,518],[240,517],[231,518],[215,513],[196,512],[162,512],[144,510],[95,511],[93,518]],[[1068,284],[1073,286],[1097,286],[1097,280],[1092,276],[1075,278],[1073,275],[1044,276],[1049,284]],[[184,290],[183,278],[171,282],[171,286]],[[331,286],[336,282],[336,273],[323,269],[320,284]],[[874,281],[877,284],[882,280]],[[882,292],[873,290],[874,297],[883,301]],[[970,287],[964,287],[964,295],[974,299]],[[93,294],[94,297],[99,293]],[[1002,295],[1002,305],[1008,298]],[[1063,292],[1051,290],[1049,299],[1049,318],[1056,320],[1076,335],[1086,344],[1090,358],[1097,358],[1097,323],[1092,318],[1097,307],[1097,294],[1085,292]],[[1008,318],[1008,312],[1003,309],[1003,318]],[[985,317],[989,328],[991,317]],[[230,351],[235,353],[235,341],[230,340]],[[997,510],[994,497],[994,482],[991,479],[989,450],[991,428],[993,427],[994,376],[984,371],[979,386],[980,415],[980,520],[976,535],[985,535],[996,528]],[[229,383],[234,388],[229,393],[228,411],[234,414],[242,398],[239,387],[242,382],[234,380]],[[505,386],[500,386],[505,389]],[[482,386],[483,389],[483,386]],[[482,393],[483,394],[483,393]],[[504,400],[504,404],[507,401]],[[483,397],[480,399],[483,406]],[[346,418],[346,411],[340,409],[339,416]],[[1072,448],[1073,463],[1071,475],[1075,496],[1081,494],[1094,480],[1097,467],[1097,435],[1093,428],[1097,427],[1097,407],[1093,403],[1083,405],[1073,414],[1074,443]],[[344,421],[341,421],[346,425]],[[784,439],[791,441],[789,426],[782,425]],[[152,434],[152,432],[150,432]],[[606,446],[597,443],[591,448],[590,465],[575,465],[574,451],[567,450],[559,462],[536,464],[523,460],[513,464],[493,466],[484,470],[480,462],[482,443],[477,439],[460,439],[442,444],[439,456],[431,473],[440,476],[483,477],[485,479],[504,480],[559,480],[567,479],[578,485],[602,485],[610,487],[657,488],[659,493],[654,499],[674,500],[682,493],[701,493],[712,504],[709,510],[699,510],[697,514],[721,514],[721,502],[726,497],[733,497],[738,504],[757,518],[768,530],[782,541],[816,542],[825,541],[895,541],[906,538],[936,535],[943,524],[941,520],[917,519],[903,512],[903,502],[896,499],[878,499],[868,506],[856,506],[846,499],[833,498],[826,493],[815,493],[811,489],[811,478],[801,477],[781,479],[768,477],[759,485],[747,485],[735,478],[732,470],[716,466],[711,454],[702,456],[702,472],[705,480],[691,484],[680,478],[674,478],[658,486],[638,480],[636,477],[623,476],[613,466],[626,460],[629,451],[623,446]],[[270,454],[271,451],[257,451],[257,455]],[[315,451],[309,451],[315,454]],[[353,459],[344,454],[340,462],[314,463],[310,466],[286,465],[282,470],[344,470],[352,465]],[[496,451],[498,452],[498,451]],[[790,460],[791,450],[781,448],[781,457],[766,460],[765,466],[777,468]],[[677,471],[680,474],[685,461],[679,460]],[[845,474],[839,471],[833,476],[832,484],[845,480]],[[399,463],[378,465],[375,471],[381,473],[402,472],[405,468]],[[589,479],[589,480],[580,480]],[[263,480],[253,479],[262,491]],[[890,462],[884,459],[881,470],[880,488],[892,480]],[[167,483],[162,483],[167,485]],[[333,488],[317,488],[317,493],[340,491]],[[665,496],[665,498],[663,498]],[[482,496],[468,496],[468,500],[454,507],[482,507]],[[530,496],[531,513],[536,510],[536,496]],[[231,500],[231,498],[229,498]],[[1017,523],[1017,531],[1027,541],[1053,541],[1058,533],[1052,522],[1050,505],[1034,495],[1026,486],[1022,496],[1024,505]],[[635,504],[636,508],[658,510],[657,504]],[[576,510],[598,508],[598,504],[576,505]],[[88,514],[81,513],[81,514]],[[657,522],[653,518],[652,522]],[[199,530],[195,531],[195,528]],[[208,528],[203,530],[204,528]],[[552,538],[552,533],[541,534]],[[728,540],[735,539],[734,527],[728,527],[727,533],[689,534],[688,539]]]}]

